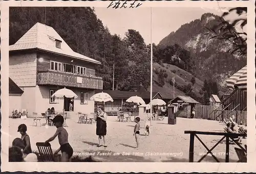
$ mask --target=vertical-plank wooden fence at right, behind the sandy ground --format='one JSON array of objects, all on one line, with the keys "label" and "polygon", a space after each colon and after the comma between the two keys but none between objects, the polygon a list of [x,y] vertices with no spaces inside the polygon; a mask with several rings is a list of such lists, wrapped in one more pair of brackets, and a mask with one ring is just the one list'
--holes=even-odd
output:
[{"label": "vertical-plank wooden fence at right, behind the sandy ground", "polygon": [[[225,110],[223,113],[221,111],[214,111],[216,106],[210,105],[196,105],[196,115],[195,118],[198,119],[207,119],[207,120],[215,120],[217,116],[219,118],[225,119],[232,115],[236,118],[235,121],[238,124],[247,125],[247,112],[246,111],[228,111]],[[221,110],[221,108],[218,108]],[[222,113],[222,114],[221,114]]]}]

